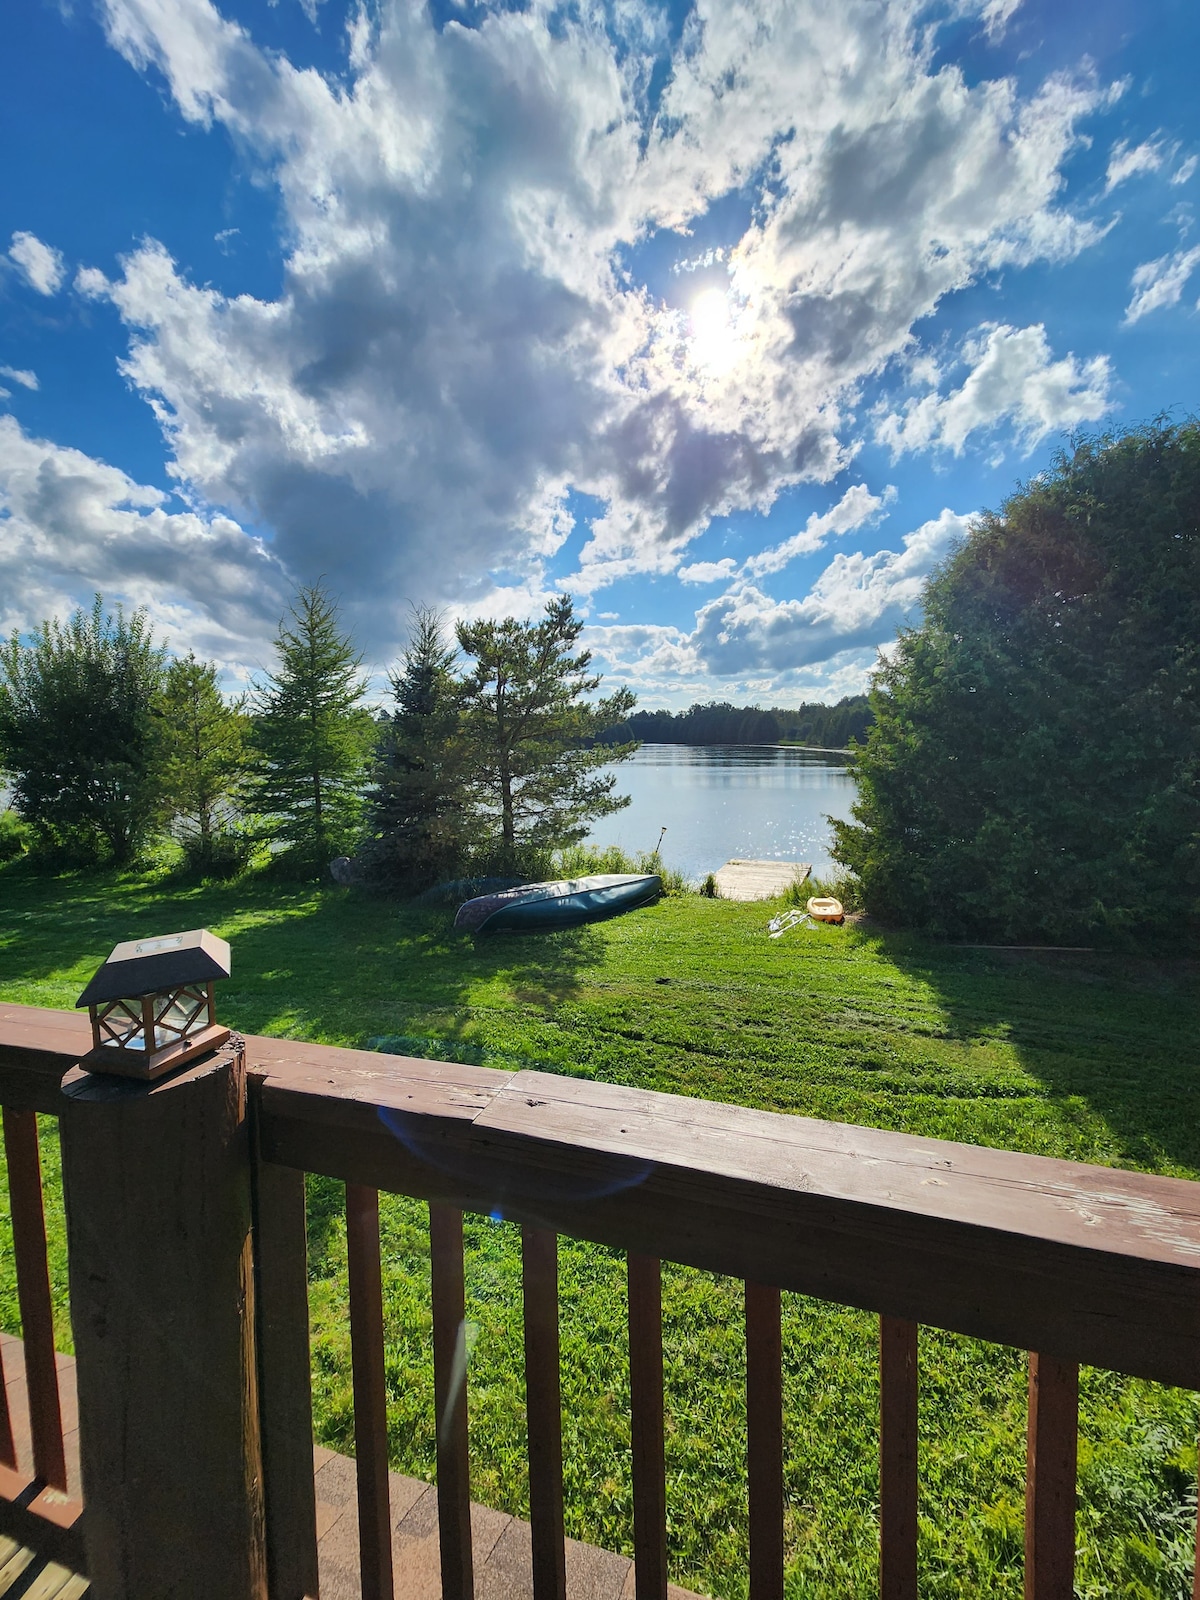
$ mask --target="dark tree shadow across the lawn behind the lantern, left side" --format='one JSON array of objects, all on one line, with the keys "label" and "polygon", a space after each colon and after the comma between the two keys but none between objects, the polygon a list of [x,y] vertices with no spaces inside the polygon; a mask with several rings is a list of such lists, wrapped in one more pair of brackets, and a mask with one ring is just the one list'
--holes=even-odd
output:
[{"label": "dark tree shadow across the lawn behind the lantern, left side", "polygon": [[[248,1034],[486,1059],[488,1014],[552,1014],[603,949],[595,928],[472,939],[453,910],[258,877],[184,885],[162,877],[0,869],[0,984],[11,998],[72,1006],[112,947],[206,926],[232,946],[219,1016]],[[478,1002],[478,1005],[477,1005]],[[422,1048],[424,1046],[424,1048]]]}]

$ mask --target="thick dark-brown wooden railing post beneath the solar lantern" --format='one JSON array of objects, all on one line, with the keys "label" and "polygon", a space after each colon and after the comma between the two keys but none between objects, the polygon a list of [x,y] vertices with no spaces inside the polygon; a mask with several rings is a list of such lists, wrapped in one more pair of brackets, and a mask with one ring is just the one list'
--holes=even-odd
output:
[{"label": "thick dark-brown wooden railing post beneath the solar lantern", "polygon": [[62,1082],[93,1600],[266,1600],[245,1064]]}]

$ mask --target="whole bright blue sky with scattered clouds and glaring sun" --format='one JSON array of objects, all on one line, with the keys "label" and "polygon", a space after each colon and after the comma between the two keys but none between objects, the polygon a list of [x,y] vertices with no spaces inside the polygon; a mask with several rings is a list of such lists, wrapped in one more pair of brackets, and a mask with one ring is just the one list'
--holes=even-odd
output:
[{"label": "whole bright blue sky with scattered clouds and glaring sun", "polygon": [[1197,410],[1184,0],[26,0],[0,627],[237,685],[325,578],[578,597],[646,706],[864,686],[1072,429]]}]

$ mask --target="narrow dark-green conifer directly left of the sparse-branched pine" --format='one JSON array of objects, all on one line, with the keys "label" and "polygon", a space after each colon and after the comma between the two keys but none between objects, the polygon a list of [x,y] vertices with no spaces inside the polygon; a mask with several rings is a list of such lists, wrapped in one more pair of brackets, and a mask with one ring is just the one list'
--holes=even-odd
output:
[{"label": "narrow dark-green conifer directly left of the sparse-branched pine", "polygon": [[390,675],[387,717],[368,797],[371,878],[413,891],[454,877],[469,845],[467,747],[462,739],[458,651],[437,611],[418,608],[408,650]]}]

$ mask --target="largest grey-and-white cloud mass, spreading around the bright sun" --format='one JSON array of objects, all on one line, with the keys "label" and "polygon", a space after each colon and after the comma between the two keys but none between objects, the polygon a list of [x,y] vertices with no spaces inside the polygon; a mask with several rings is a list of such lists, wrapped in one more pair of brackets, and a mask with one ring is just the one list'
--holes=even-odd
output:
[{"label": "largest grey-and-white cloud mass, spreading around the bright sun", "polygon": [[[976,6],[994,30],[1011,11]],[[622,8],[614,43],[598,0],[442,29],[381,0],[344,80],[210,0],[104,16],[278,186],[291,253],[274,301],[200,288],[154,242],[77,285],[125,318],[189,491],[326,571],[368,648],[408,597],[536,592],[570,488],[605,506],[571,587],[675,570],[712,517],[845,467],[861,382],[946,294],[1099,237],[1062,165],[1110,96],[968,83],[915,0],[699,0],[654,112],[656,13]],[[730,286],[717,370],[622,274],[742,187],[754,219],[706,269]]]}]

